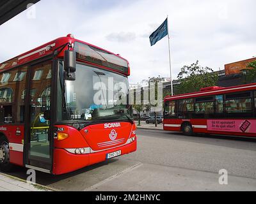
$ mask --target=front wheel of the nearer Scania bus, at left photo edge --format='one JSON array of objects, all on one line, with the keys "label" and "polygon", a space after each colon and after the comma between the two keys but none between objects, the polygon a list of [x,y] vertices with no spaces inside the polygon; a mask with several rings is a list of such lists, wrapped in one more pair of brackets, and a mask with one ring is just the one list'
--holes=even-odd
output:
[{"label": "front wheel of the nearer Scania bus, at left photo edge", "polygon": [[0,136],[0,170],[4,172],[11,171],[13,164],[10,163],[10,149],[6,138]]}]

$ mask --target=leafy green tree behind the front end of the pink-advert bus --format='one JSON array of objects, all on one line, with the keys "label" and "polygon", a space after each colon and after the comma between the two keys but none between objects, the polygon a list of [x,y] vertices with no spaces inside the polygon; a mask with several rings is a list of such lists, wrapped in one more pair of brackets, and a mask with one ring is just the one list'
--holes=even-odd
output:
[{"label": "leafy green tree behind the front end of the pink-advert bus", "polygon": [[178,94],[184,94],[217,85],[218,73],[213,73],[212,68],[200,66],[196,61],[189,66],[183,66],[178,79],[180,80],[180,84],[177,85]]}]

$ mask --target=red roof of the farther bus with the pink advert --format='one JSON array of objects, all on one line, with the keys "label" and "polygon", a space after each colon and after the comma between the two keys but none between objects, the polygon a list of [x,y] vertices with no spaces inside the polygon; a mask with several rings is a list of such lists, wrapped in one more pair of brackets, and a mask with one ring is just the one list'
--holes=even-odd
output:
[{"label": "red roof of the farther bus with the pink advert", "polygon": [[177,99],[186,99],[186,98],[197,98],[202,96],[211,96],[218,94],[226,94],[230,92],[243,92],[250,91],[256,89],[256,83],[253,84],[245,84],[245,85],[237,85],[233,87],[207,87],[203,88],[198,92],[191,92],[188,94],[179,94],[175,96],[166,96],[164,101],[168,100],[177,100]]}]

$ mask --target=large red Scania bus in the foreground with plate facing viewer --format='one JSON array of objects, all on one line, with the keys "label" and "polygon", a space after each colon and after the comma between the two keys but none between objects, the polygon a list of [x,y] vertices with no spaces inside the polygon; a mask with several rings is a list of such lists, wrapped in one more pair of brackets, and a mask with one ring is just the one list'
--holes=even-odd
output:
[{"label": "large red Scania bus in the foreground with plate facing viewer", "polygon": [[136,151],[132,106],[118,103],[129,75],[126,59],[71,34],[0,64],[1,170],[60,175]]}]

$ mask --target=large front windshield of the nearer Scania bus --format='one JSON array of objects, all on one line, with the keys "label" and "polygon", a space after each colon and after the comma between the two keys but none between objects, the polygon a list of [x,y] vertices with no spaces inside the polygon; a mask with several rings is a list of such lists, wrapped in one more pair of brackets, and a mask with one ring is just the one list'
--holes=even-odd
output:
[{"label": "large front windshield of the nearer Scania bus", "polygon": [[58,121],[131,120],[127,77],[104,69],[77,64],[76,80],[58,81]]}]

